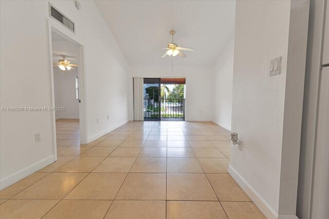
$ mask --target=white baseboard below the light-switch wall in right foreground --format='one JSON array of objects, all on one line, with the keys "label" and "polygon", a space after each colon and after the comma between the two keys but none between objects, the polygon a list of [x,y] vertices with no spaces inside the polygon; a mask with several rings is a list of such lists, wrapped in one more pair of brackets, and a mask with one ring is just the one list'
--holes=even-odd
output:
[{"label": "white baseboard below the light-switch wall in right foreground", "polygon": [[243,189],[243,191],[245,191],[245,193],[250,197],[252,202],[262,211],[266,218],[278,219],[278,213],[266,203],[262,196],[258,194],[258,192],[256,192],[250,184],[248,184],[248,182],[238,172],[236,172],[234,168],[231,167],[231,165],[228,166],[228,172]]}]

